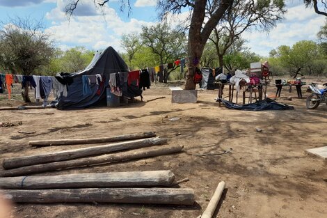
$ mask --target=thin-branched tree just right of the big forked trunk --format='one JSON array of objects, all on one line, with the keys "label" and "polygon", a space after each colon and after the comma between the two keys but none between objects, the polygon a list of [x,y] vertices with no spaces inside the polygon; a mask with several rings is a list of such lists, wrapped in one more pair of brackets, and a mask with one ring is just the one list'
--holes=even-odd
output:
[{"label": "thin-branched tree just right of the big forked trunk", "polygon": [[282,0],[234,0],[232,10],[228,10],[223,22],[214,28],[209,37],[216,46],[219,66],[223,66],[223,56],[234,42],[241,40],[244,31],[251,27],[269,31],[284,13],[285,3]]}]

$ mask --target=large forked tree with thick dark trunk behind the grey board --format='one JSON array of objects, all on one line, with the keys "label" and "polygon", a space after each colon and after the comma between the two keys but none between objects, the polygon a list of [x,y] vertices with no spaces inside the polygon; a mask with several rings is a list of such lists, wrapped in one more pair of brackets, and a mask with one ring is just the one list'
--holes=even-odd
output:
[{"label": "large forked tree with thick dark trunk behind the grey board", "polygon": [[[66,6],[66,13],[72,15],[81,0],[70,0]],[[212,29],[221,20],[228,8],[232,8],[234,0],[159,0],[157,6],[161,10],[161,18],[163,19],[171,14],[180,14],[184,8],[188,8],[191,13],[191,23],[189,25],[188,40],[188,56],[189,70],[186,74],[186,89],[196,88],[193,83],[193,76],[196,66],[200,63],[205,44],[212,33]],[[104,6],[109,0],[95,0],[97,6]],[[121,6],[130,8],[129,0],[120,0]],[[211,16],[206,18],[210,11]],[[206,20],[205,20],[206,18]]]}]

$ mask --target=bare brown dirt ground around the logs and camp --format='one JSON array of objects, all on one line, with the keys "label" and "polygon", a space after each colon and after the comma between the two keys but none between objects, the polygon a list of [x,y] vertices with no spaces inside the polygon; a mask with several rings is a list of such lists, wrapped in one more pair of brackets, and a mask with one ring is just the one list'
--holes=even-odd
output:
[{"label": "bare brown dirt ground around the logs and camp", "polygon": [[[326,77],[319,80],[320,84],[323,82],[327,82]],[[181,84],[152,86],[143,93],[145,102],[119,108],[26,110],[54,112],[53,115],[0,111],[0,122],[22,121],[22,125],[0,127],[0,159],[85,147],[33,149],[28,145],[30,140],[156,131],[160,137],[168,138],[166,146],[183,145],[184,152],[42,175],[170,169],[177,180],[190,179],[180,187],[194,189],[195,205],[17,204],[13,217],[198,217],[221,180],[227,187],[214,217],[327,217],[326,162],[305,153],[308,148],[327,146],[326,104],[315,110],[306,109],[305,88],[303,99],[292,101],[285,97],[296,97],[295,89],[288,93],[287,88],[283,88],[278,102],[295,107],[288,111],[237,111],[218,107],[214,101],[217,91],[199,91],[197,104],[171,104],[168,86],[175,85]],[[268,93],[275,91],[274,86],[269,86]],[[166,98],[157,99],[159,97]],[[0,107],[21,104],[1,98]],[[173,117],[180,120],[170,121]],[[36,133],[19,134],[18,130]],[[196,156],[221,153],[230,148],[232,153],[225,155]]]}]

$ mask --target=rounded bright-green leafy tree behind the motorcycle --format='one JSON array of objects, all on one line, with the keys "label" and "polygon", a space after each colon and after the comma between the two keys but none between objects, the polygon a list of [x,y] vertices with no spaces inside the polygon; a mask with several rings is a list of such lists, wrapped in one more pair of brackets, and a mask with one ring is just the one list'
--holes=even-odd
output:
[{"label": "rounded bright-green leafy tree behind the motorcycle", "polygon": [[277,49],[280,63],[288,68],[294,78],[298,74],[303,75],[301,70],[310,69],[315,59],[318,59],[318,47],[313,41],[302,40],[296,42],[292,47],[282,45]]}]

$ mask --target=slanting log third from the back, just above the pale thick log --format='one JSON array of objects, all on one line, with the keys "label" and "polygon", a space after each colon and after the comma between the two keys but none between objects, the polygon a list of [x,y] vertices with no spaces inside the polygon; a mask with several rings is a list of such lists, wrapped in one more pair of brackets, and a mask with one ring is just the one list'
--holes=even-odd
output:
[{"label": "slanting log third from the back, just above the pale thick log", "polygon": [[47,164],[39,164],[32,166],[24,166],[17,169],[0,171],[0,177],[8,176],[24,176],[31,173],[42,173],[47,171],[55,171],[57,169],[65,169],[76,166],[90,166],[95,164],[104,164],[111,162],[120,162],[131,159],[140,159],[146,157],[155,157],[159,155],[169,155],[179,153],[184,146],[170,146],[168,148],[151,148],[147,150],[130,150],[122,153],[109,155],[101,155],[98,157],[87,157],[81,159],[67,160],[63,162],[52,162]]}]

